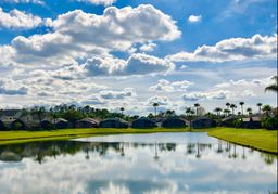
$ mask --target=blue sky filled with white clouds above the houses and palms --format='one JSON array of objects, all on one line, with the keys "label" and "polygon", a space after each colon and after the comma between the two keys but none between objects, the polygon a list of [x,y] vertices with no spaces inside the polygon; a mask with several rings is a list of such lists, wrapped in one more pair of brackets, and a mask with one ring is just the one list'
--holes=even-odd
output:
[{"label": "blue sky filled with white clouds above the houses and palms", "polygon": [[[277,75],[276,0],[0,0],[0,108],[257,112]],[[239,105],[238,105],[239,107]],[[238,109],[240,111],[240,109]]]}]

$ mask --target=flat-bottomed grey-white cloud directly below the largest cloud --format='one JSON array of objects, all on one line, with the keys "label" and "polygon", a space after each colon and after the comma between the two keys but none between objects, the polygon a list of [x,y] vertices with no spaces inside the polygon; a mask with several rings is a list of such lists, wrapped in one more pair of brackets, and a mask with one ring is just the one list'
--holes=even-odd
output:
[{"label": "flat-bottomed grey-white cloud directly below the largest cloud", "polygon": [[108,56],[89,59],[85,63],[85,69],[90,76],[146,75],[167,73],[174,68],[175,65],[167,60],[142,53],[131,54],[127,61]]}]

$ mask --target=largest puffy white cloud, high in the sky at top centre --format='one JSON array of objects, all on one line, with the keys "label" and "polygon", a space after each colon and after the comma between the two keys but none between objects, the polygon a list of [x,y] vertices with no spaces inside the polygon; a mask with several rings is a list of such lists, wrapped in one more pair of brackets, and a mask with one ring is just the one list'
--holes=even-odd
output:
[{"label": "largest puffy white cloud, high in the sky at top centre", "polygon": [[[134,42],[174,40],[181,34],[170,16],[150,4],[110,7],[103,15],[75,10],[58,16],[52,27],[76,42],[117,50],[127,50]],[[151,33],[146,33],[149,29]]]}]

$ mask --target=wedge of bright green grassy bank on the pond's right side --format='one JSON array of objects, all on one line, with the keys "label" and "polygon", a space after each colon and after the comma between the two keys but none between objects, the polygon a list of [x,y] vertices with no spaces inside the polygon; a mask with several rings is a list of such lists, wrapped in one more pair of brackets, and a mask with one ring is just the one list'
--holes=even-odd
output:
[{"label": "wedge of bright green grassy bank on the pond's right side", "polygon": [[216,128],[208,131],[208,135],[258,151],[278,153],[277,130]]}]

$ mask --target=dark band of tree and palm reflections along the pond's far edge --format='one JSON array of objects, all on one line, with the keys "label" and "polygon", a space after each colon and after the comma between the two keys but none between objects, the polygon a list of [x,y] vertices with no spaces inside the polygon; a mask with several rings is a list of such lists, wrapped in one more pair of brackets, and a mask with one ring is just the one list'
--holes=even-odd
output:
[{"label": "dark band of tree and palm reflections along the pond's far edge", "polygon": [[[217,148],[215,150],[216,154],[223,154],[223,141],[218,141]],[[228,158],[238,158],[237,146],[225,142],[225,151],[228,152]],[[1,145],[0,146],[0,160],[2,161],[21,161],[24,157],[34,158],[38,164],[46,161],[46,157],[56,158],[60,155],[75,155],[79,152],[85,153],[85,159],[90,159],[90,153],[98,153],[99,156],[105,157],[108,151],[118,153],[123,158],[126,156],[125,147],[132,147],[135,150],[140,147],[154,147],[154,160],[159,160],[159,152],[169,153],[176,152],[177,144],[175,143],[131,143],[131,142],[79,142],[79,141],[53,141],[53,142],[33,142],[25,144],[11,144],[11,145]],[[181,146],[181,145],[180,145]],[[184,144],[182,144],[184,146]],[[233,146],[233,148],[231,148]],[[186,143],[186,153],[188,155],[195,153],[195,158],[200,159],[203,152],[210,152],[212,148],[211,143]],[[231,151],[232,150],[232,151]],[[245,152],[248,150],[248,154]],[[232,152],[232,154],[231,154]],[[241,159],[247,159],[248,155],[252,154],[253,150],[242,147]],[[261,153],[261,158],[265,164],[271,165],[277,156]]]}]

